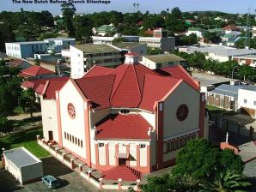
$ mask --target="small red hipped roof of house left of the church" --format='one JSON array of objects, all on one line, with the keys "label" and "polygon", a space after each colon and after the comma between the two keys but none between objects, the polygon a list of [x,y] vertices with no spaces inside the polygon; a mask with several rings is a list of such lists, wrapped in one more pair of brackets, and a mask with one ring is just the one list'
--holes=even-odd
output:
[{"label": "small red hipped roof of house left of the church", "polygon": [[46,69],[46,68],[42,68],[40,66],[31,66],[27,69],[23,69],[21,71],[21,76],[24,77],[30,77],[30,76],[36,76],[36,75],[48,75],[48,74],[55,74],[55,72],[53,72],[52,70]]}]

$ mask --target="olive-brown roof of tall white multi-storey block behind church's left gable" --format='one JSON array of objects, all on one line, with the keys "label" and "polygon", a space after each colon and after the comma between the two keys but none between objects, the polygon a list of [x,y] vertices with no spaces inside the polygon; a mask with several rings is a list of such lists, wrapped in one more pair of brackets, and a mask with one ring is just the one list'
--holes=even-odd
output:
[{"label": "olive-brown roof of tall white multi-storey block behind church's left gable", "polygon": [[76,45],[76,49],[83,51],[84,54],[96,54],[105,52],[119,52],[118,49],[113,48],[111,45],[107,44],[84,44]]}]

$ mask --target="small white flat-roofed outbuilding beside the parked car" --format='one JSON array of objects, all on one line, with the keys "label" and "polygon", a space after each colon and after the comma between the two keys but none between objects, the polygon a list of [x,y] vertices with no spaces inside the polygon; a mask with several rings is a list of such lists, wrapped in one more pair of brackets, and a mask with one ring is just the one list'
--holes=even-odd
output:
[{"label": "small white flat-roofed outbuilding beside the parked car", "polygon": [[9,171],[21,185],[43,176],[42,161],[25,147],[4,151],[3,158],[5,170]]}]

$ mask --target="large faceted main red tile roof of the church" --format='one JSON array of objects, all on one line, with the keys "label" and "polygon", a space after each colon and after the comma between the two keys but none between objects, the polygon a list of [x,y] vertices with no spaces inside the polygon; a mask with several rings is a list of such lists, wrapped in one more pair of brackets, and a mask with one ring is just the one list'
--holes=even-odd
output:
[{"label": "large faceted main red tile roof of the church", "polygon": [[161,71],[157,73],[139,63],[122,64],[116,69],[94,67],[82,79],[75,81],[96,110],[125,107],[154,111],[155,101],[170,93],[180,80],[199,90],[198,82],[182,67]]}]

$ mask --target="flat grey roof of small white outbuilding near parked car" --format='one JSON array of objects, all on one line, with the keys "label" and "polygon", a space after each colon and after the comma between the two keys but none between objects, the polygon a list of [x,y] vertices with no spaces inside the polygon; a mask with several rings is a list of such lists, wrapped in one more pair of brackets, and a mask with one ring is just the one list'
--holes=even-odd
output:
[{"label": "flat grey roof of small white outbuilding near parked car", "polygon": [[34,154],[28,152],[24,147],[4,151],[3,155],[17,167],[41,162],[40,159],[36,158]]}]

